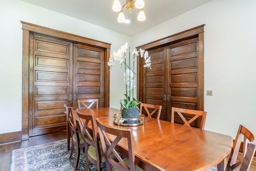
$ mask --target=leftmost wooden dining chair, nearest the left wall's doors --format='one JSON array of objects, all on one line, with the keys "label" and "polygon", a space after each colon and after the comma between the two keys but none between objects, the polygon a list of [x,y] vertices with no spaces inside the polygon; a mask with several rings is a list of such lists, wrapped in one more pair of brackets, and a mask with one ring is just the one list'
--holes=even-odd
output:
[{"label": "leftmost wooden dining chair, nearest the left wall's doors", "polygon": [[68,120],[68,126],[71,132],[70,135],[72,135],[72,146],[71,146],[69,159],[71,159],[74,152],[74,146],[76,146],[76,163],[74,168],[74,170],[76,171],[78,167],[79,157],[80,157],[80,148],[83,148],[83,151],[84,151],[84,141],[82,139],[82,133],[78,129],[78,125],[76,124],[76,117],[74,115],[73,107],[68,107],[66,104],[64,105],[64,107],[66,110],[65,113]]}]

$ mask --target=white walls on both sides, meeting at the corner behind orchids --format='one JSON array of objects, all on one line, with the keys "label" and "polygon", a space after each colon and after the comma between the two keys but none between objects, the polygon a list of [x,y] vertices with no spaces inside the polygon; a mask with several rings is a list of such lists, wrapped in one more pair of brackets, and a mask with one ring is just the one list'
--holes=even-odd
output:
[{"label": "white walls on both sides, meeting at the corner behind orchids", "polygon": [[[242,123],[256,132],[255,9],[255,0],[213,0],[131,38],[19,0],[1,0],[0,133],[21,130],[21,20],[111,43],[112,50],[126,42],[136,47],[206,24],[204,94],[212,89],[213,95],[204,96],[205,129],[235,137]],[[118,102],[125,92],[120,73],[123,70],[119,64],[110,72],[110,107],[119,108]]]}]

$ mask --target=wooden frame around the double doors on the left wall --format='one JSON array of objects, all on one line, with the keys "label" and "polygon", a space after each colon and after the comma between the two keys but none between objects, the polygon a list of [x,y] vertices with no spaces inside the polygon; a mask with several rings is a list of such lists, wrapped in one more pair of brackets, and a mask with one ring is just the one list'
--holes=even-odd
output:
[{"label": "wooden frame around the double doors on the left wall", "polygon": [[[90,45],[90,46],[95,46],[98,48],[103,48],[105,49],[106,53],[104,56],[104,63],[107,64],[108,63],[108,59],[110,58],[110,45],[109,43],[105,43],[105,42],[100,42],[98,40],[93,40],[93,39],[89,39],[89,38],[84,38],[82,36],[77,36],[74,34],[70,34],[70,33],[66,33],[66,32],[61,32],[58,30],[54,30],[54,29],[50,29],[50,28],[46,28],[46,27],[42,27],[42,26],[38,26],[35,24],[30,24],[27,22],[23,22],[22,23],[22,30],[23,30],[23,42],[22,42],[22,133],[21,133],[21,140],[27,140],[29,138],[29,113],[31,113],[29,110],[32,109],[31,106],[32,105],[32,99],[29,99],[29,92],[31,91],[30,87],[30,80],[33,76],[32,73],[30,73],[30,51],[31,51],[31,47],[30,47],[30,33],[38,33],[38,34],[43,34],[46,36],[52,36],[54,38],[60,38],[60,39],[64,39],[70,42],[76,42],[76,43],[80,43],[80,44],[86,44],[86,45]],[[33,58],[32,58],[33,59]],[[104,98],[104,106],[105,107],[109,107],[109,85],[110,85],[110,72],[108,69],[108,66],[106,65],[104,67],[104,73],[106,75],[104,75],[104,89],[105,89],[105,93],[103,95]],[[64,108],[63,108],[64,109]]]}]

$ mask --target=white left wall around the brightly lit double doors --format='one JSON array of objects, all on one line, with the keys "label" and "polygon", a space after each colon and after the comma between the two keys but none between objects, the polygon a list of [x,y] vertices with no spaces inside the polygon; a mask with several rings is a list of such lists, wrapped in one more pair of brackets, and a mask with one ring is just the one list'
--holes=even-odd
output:
[{"label": "white left wall around the brightly lit double doors", "polygon": [[[0,134],[21,131],[22,127],[22,24],[20,21],[110,43],[111,51],[112,48],[117,50],[126,42],[130,44],[131,39],[130,36],[20,0],[1,0],[0,18]],[[118,65],[110,71],[110,106],[118,109],[119,100],[123,98],[125,92],[120,72],[123,70]]]}]

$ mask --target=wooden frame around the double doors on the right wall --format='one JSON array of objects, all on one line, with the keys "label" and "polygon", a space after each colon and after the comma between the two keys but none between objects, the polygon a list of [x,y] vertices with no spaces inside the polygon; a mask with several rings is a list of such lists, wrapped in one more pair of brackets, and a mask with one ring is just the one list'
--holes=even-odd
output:
[{"label": "wooden frame around the double doors on the right wall", "polygon": [[[198,36],[198,96],[202,97],[199,99],[198,110],[204,111],[204,26],[197,26],[195,28],[191,28],[189,30],[156,40],[154,42],[150,42],[148,44],[144,44],[142,46],[136,47],[138,49],[150,50],[162,46],[166,46],[172,44],[174,42],[178,42],[180,40],[185,40],[188,38],[192,38]],[[144,85],[145,85],[145,68],[143,67],[144,63],[141,62],[139,58],[137,58],[137,98],[143,102],[144,99]]]}]

